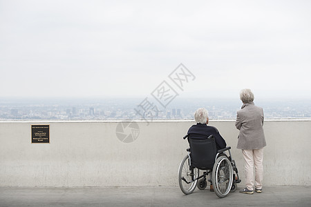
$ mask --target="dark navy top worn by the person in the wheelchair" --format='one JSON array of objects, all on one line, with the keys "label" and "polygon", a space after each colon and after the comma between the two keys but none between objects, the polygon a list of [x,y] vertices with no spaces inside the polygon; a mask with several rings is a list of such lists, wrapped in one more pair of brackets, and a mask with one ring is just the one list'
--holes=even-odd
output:
[{"label": "dark navy top worn by the person in the wheelchair", "polygon": [[227,146],[225,139],[221,137],[218,130],[214,126],[207,126],[207,124],[196,124],[189,128],[188,134],[194,134],[194,139],[207,139],[209,135],[213,135],[217,150],[223,149]]}]

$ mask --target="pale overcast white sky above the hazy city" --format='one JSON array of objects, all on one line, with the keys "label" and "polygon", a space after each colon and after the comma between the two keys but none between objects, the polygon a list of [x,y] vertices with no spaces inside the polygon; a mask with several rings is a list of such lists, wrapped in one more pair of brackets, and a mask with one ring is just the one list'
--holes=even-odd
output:
[{"label": "pale overcast white sky above the hazy city", "polygon": [[[311,1],[0,0],[0,97],[311,97]],[[177,90],[177,89],[176,89]],[[258,97],[257,96],[257,97]]]}]

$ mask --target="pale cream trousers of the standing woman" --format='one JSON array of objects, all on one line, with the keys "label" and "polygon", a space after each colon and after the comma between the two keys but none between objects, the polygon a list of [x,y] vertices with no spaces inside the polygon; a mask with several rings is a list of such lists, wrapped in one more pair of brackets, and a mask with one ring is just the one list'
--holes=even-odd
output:
[{"label": "pale cream trousers of the standing woman", "polygon": [[254,190],[254,185],[257,189],[263,188],[263,148],[258,150],[242,150],[242,153],[244,157],[245,184],[247,189]]}]

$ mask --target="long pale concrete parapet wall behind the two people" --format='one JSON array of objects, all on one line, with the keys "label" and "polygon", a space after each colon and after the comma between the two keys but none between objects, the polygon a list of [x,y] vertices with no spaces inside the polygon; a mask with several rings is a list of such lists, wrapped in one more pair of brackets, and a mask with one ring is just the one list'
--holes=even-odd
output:
[{"label": "long pale concrete parapet wall behind the two people", "polygon": [[[131,143],[117,138],[120,123],[1,121],[0,186],[177,186],[188,146],[182,137],[193,122],[138,122]],[[50,124],[50,144],[31,144],[32,124]],[[232,146],[243,179],[234,120],[210,125]],[[311,185],[311,120],[268,120],[264,130],[264,184]]]}]

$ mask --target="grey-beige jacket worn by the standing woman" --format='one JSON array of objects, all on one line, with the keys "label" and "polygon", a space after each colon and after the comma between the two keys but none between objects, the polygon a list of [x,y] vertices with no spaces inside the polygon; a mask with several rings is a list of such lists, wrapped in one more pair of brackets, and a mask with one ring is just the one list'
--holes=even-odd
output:
[{"label": "grey-beige jacket worn by the standing woman", "polygon": [[236,128],[240,130],[238,146],[242,150],[261,149],[265,143],[263,133],[263,108],[254,103],[245,103],[236,116]]}]

